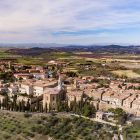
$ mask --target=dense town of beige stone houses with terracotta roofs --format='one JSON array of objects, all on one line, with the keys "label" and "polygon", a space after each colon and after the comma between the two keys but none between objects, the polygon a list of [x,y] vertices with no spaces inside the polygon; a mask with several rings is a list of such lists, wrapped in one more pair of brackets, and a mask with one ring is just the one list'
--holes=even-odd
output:
[{"label": "dense town of beige stone houses with terracotta roofs", "polygon": [[[56,62],[50,62],[57,65]],[[10,63],[8,63],[10,67]],[[64,65],[64,64],[63,64]],[[65,74],[58,74],[57,78],[42,66],[31,66],[25,70],[15,65],[17,70],[14,73],[16,79],[13,83],[0,82],[0,101],[5,98],[4,93],[9,97],[17,95],[17,100],[25,102],[32,98],[42,97],[43,107],[56,110],[56,103],[61,93],[66,94],[68,104],[72,101],[80,101],[83,95],[90,97],[91,103],[97,110],[107,111],[109,108],[122,108],[127,113],[140,116],[140,84],[127,83],[122,79],[110,80],[108,87],[100,87],[94,77],[67,77]],[[108,77],[99,77],[100,80],[109,80]]]}]

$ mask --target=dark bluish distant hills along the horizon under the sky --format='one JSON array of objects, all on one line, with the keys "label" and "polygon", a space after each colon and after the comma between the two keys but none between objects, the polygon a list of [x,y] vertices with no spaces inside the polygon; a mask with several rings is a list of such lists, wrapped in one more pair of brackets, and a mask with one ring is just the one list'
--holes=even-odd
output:
[{"label": "dark bluish distant hills along the horizon under the sky", "polygon": [[140,46],[121,45],[60,45],[60,44],[0,44],[0,47],[9,48],[9,52],[23,55],[38,55],[43,52],[52,51],[87,51],[96,53],[118,53],[118,54],[140,54]]}]

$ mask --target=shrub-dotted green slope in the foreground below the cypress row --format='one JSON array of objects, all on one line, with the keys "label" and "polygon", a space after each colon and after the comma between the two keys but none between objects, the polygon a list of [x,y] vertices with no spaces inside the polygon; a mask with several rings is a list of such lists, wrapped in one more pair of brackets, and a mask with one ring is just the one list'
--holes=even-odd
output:
[{"label": "shrub-dotted green slope in the foreground below the cypress row", "polygon": [[0,112],[0,140],[111,140],[116,127],[65,115]]}]

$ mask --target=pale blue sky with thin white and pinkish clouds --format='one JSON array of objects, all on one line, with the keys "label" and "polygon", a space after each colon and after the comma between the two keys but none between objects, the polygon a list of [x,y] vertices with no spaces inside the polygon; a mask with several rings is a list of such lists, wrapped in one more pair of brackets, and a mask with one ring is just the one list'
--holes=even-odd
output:
[{"label": "pale blue sky with thin white and pinkish clouds", "polygon": [[0,0],[0,43],[140,45],[140,0]]}]

